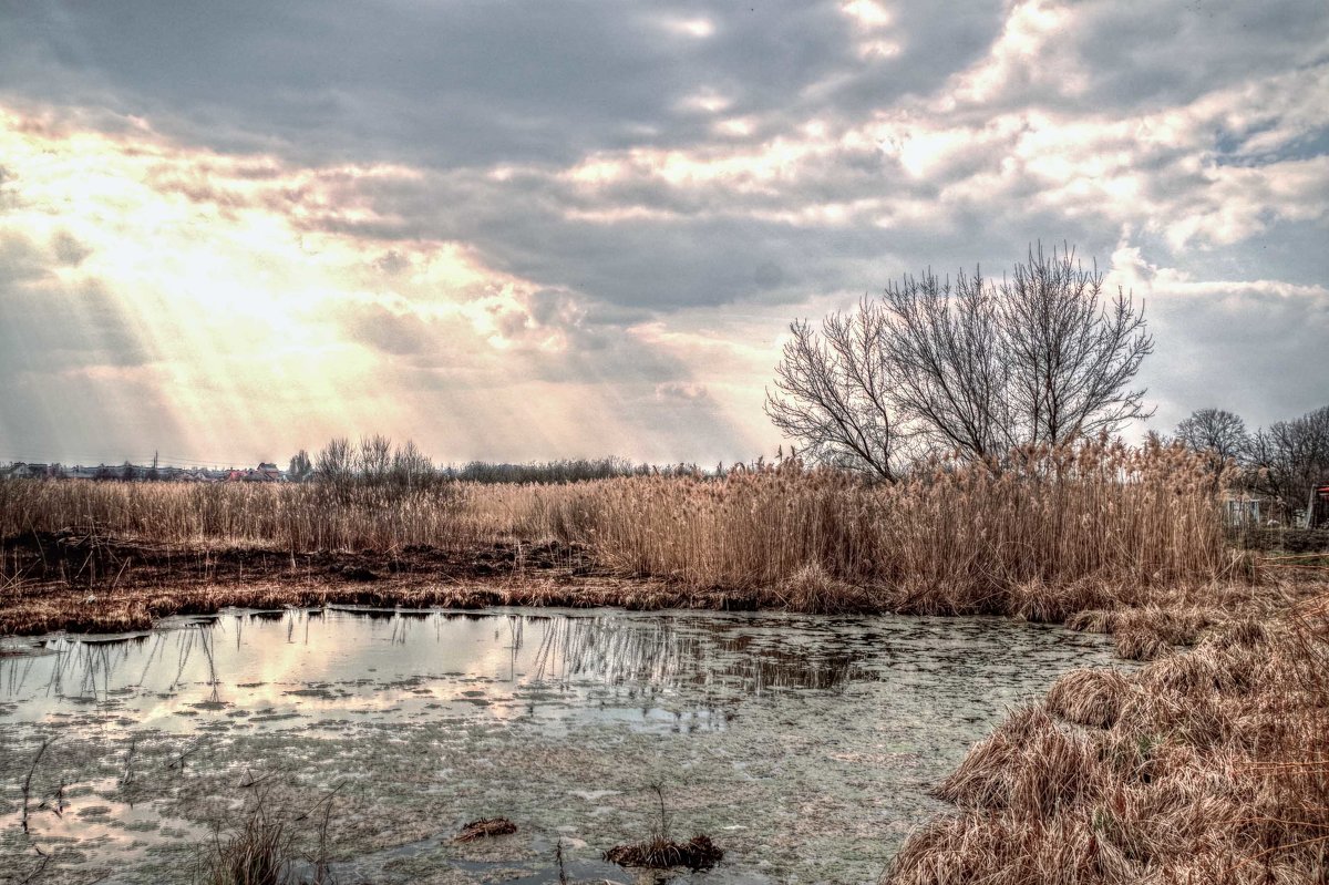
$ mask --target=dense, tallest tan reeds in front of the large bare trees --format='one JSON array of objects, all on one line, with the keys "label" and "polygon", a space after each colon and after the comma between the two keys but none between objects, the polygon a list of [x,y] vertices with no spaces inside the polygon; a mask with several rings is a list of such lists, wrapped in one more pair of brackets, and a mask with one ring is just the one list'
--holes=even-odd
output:
[{"label": "dense, tallest tan reeds in front of the large bare trees", "polygon": [[630,571],[768,586],[815,565],[940,610],[1005,609],[1031,585],[1155,585],[1232,567],[1212,473],[1156,444],[1026,449],[1002,470],[936,464],[894,485],[796,461],[708,482],[614,480],[533,490],[526,513],[530,529]]}]

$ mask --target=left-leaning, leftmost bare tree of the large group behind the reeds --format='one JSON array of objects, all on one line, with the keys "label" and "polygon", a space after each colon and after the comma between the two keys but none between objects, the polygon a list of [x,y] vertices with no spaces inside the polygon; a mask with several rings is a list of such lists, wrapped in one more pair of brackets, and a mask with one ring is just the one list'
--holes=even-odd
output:
[{"label": "left-leaning, leftmost bare tree of the large group behind the reeds", "polygon": [[865,298],[852,314],[827,316],[820,334],[807,320],[789,331],[777,393],[767,391],[771,421],[816,460],[893,480],[898,439],[882,307]]}]

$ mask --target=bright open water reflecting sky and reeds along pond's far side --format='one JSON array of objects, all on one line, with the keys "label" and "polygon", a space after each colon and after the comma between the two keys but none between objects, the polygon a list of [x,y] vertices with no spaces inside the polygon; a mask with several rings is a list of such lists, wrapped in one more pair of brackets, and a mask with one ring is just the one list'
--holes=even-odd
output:
[{"label": "bright open water reflecting sky and reeds along pond's far side", "polygon": [[[940,683],[981,680],[986,708],[1041,663],[1100,646],[995,619],[351,609],[227,613],[41,644],[45,654],[0,658],[0,722],[78,714],[179,731],[469,711],[687,731],[723,728],[744,698],[868,682],[962,702],[971,691]],[[966,715],[962,703],[954,712]]]}]

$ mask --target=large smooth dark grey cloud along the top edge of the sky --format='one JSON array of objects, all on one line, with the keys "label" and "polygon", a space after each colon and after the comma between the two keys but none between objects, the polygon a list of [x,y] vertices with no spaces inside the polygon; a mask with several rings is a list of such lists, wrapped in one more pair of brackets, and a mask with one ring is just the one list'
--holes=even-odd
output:
[{"label": "large smooth dark grey cloud along the top edge of the sky", "polygon": [[[0,84],[27,97],[108,102],[221,148],[447,167],[690,144],[707,121],[679,102],[702,88],[740,114],[889,102],[979,53],[998,8],[905,16],[918,31],[904,53],[848,76],[848,20],[803,0],[145,0],[16,4],[5,17]],[[711,36],[680,27],[698,19]]]}]

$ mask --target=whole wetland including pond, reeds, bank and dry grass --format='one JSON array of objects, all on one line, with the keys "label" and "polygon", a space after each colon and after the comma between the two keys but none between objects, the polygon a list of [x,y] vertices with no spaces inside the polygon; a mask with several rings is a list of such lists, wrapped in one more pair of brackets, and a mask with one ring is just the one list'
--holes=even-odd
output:
[{"label": "whole wetland including pond, reeds, bank and dry grass", "polygon": [[1219,488],[0,482],[0,882],[1324,881],[1324,567]]}]

